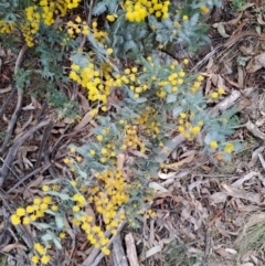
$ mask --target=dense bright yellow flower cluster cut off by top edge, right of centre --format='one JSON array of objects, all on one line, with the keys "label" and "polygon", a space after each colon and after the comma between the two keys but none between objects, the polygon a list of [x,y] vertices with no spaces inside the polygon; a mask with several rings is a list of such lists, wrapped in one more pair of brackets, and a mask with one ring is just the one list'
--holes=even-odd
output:
[{"label": "dense bright yellow flower cluster cut off by top edge, right of centre", "polygon": [[155,14],[158,19],[167,19],[169,17],[169,4],[170,1],[127,0],[125,1],[124,8],[128,21],[140,22],[144,21],[148,14]]}]

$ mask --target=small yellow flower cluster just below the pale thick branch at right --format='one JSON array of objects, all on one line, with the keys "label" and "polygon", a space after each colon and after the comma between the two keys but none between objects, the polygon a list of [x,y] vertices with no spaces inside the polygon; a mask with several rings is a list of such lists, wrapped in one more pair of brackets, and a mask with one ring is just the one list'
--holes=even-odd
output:
[{"label": "small yellow flower cluster just below the pale thick branch at right", "polygon": [[178,119],[178,130],[179,132],[184,136],[188,140],[192,140],[195,135],[201,131],[203,126],[203,121],[198,121],[197,125],[192,125],[190,118],[194,116],[193,113],[186,114],[181,113]]}]

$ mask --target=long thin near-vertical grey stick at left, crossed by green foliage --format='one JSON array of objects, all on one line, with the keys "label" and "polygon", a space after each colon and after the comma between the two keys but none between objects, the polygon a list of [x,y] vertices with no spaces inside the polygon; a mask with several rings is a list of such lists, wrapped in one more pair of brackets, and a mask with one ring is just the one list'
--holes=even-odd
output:
[{"label": "long thin near-vertical grey stick at left, crossed by green foliage", "polygon": [[[14,75],[18,73],[18,70],[22,63],[22,60],[23,60],[23,56],[25,54],[25,51],[28,50],[28,46],[24,45],[20,53],[19,53],[19,56],[17,58],[17,62],[15,62],[15,66],[14,66]],[[21,107],[22,107],[22,100],[23,100],[23,91],[22,88],[18,87],[17,86],[17,91],[18,91],[18,102],[17,102],[17,106],[15,106],[15,109],[14,109],[14,113],[9,121],[9,126],[8,126],[8,129],[7,129],[7,137],[0,148],[0,155],[2,155],[6,149],[7,149],[7,146],[12,137],[12,134],[13,134],[13,129],[14,129],[14,125],[19,118],[19,114],[20,114],[20,110],[21,110]]]}]

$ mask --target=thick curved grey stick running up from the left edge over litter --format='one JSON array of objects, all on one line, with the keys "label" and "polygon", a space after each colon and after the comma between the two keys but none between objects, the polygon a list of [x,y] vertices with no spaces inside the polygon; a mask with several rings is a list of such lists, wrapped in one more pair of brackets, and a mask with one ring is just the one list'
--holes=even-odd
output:
[{"label": "thick curved grey stick running up from the left edge over litter", "polygon": [[38,129],[45,127],[51,119],[44,120],[36,126],[32,127],[28,132],[25,132],[21,138],[17,139],[13,143],[13,146],[9,149],[9,152],[7,155],[7,158],[3,162],[3,166],[0,168],[0,187],[3,184],[4,179],[7,178],[9,173],[10,166],[12,164],[15,155],[18,152],[18,149],[22,146],[22,143]]}]

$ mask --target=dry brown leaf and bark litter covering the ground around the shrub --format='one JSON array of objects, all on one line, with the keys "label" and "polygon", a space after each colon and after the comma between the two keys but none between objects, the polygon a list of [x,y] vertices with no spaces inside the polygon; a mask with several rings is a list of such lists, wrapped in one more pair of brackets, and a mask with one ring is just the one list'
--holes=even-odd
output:
[{"label": "dry brown leaf and bark litter covering the ground around the shrub", "polygon": [[[177,136],[176,148],[168,153],[172,162],[168,172],[159,172],[159,179],[153,181],[158,188],[152,204],[157,217],[145,221],[140,230],[120,227],[113,254],[102,259],[95,256],[88,264],[83,262],[93,257],[93,251],[86,248],[82,234],[70,231],[68,245],[60,253],[54,251],[57,264],[265,265],[265,17],[258,1],[247,2],[233,15],[226,12],[233,13],[229,3],[212,11],[209,19],[212,46],[208,52],[201,50],[191,71],[204,75],[205,95],[214,88],[225,88],[225,98],[220,104],[213,103],[212,111],[239,108],[242,127],[232,138],[240,137],[244,149],[232,161],[224,162],[215,155],[200,153],[197,146]],[[18,105],[11,82],[17,56],[0,51],[1,147]],[[75,95],[81,113],[85,114],[88,102],[82,92],[76,91]],[[42,195],[42,185],[63,171],[67,145],[78,145],[78,139],[91,137],[89,116],[83,115],[77,125],[67,118],[52,124],[49,120],[52,116],[51,107],[25,95],[12,141],[1,149],[0,173],[6,161],[11,172],[1,191],[1,265],[26,265],[26,249],[36,234],[28,226],[10,226],[8,216],[17,208],[15,202]],[[14,158],[10,157],[10,150],[14,151]],[[65,257],[72,263],[65,263]]]}]

